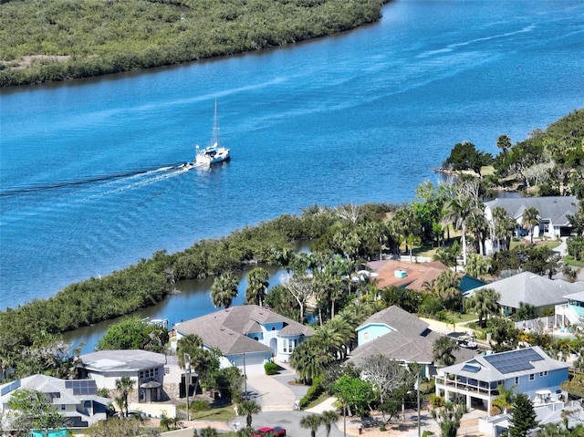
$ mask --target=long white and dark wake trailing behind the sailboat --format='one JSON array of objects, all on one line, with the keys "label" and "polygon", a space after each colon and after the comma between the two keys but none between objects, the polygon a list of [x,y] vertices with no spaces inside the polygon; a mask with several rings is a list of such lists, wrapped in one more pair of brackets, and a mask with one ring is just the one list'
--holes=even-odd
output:
[{"label": "long white and dark wake trailing behind the sailboat", "polygon": [[144,181],[144,183],[155,182],[156,180],[165,179],[173,174],[178,174],[190,169],[185,168],[183,163],[171,163],[162,167],[156,166],[151,168],[134,169],[128,172],[105,173],[96,176],[90,176],[82,179],[65,180],[57,182],[48,182],[38,185],[27,185],[22,187],[8,188],[0,190],[0,197],[14,196],[18,194],[25,194],[28,192],[44,192],[49,190],[57,190],[61,188],[68,188],[73,186],[84,186],[99,182],[111,182],[124,178],[135,178],[137,176],[152,176],[153,181]]}]

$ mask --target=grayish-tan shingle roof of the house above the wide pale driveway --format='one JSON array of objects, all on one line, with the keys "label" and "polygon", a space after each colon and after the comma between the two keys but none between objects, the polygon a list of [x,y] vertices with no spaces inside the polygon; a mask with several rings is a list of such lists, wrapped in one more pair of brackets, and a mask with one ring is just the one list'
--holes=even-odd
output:
[{"label": "grayish-tan shingle roof of the house above the wide pale driveway", "polygon": [[284,328],[280,329],[278,335],[311,336],[314,333],[312,328],[257,305],[222,309],[177,324],[175,328],[183,335],[198,335],[203,338],[203,343],[207,347],[219,349],[225,355],[229,355],[270,351],[271,349],[261,342],[246,337],[248,333],[261,332],[260,325],[266,323],[283,323]]}]

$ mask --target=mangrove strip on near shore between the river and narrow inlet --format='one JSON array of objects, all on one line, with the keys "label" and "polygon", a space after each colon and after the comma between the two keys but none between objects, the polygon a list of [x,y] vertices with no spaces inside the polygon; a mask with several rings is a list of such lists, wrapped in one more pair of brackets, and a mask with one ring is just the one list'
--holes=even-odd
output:
[{"label": "mangrove strip on near shore between the river and narrow inlet", "polygon": [[[363,219],[388,208],[360,207]],[[176,281],[219,276],[241,269],[252,260],[286,266],[287,254],[291,254],[295,242],[316,240],[336,227],[335,224],[342,229],[338,215],[327,209],[322,213],[316,210],[309,208],[301,216],[282,215],[224,238],[201,240],[176,254],[156,252],[150,259],[109,276],[92,277],[67,286],[54,297],[8,308],[0,312],[0,351],[4,355],[6,351],[33,345],[43,336],[154,305],[172,291]],[[373,254],[379,254],[380,247],[373,250]]]}]

